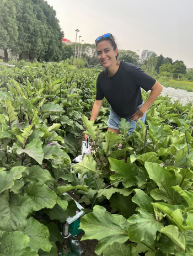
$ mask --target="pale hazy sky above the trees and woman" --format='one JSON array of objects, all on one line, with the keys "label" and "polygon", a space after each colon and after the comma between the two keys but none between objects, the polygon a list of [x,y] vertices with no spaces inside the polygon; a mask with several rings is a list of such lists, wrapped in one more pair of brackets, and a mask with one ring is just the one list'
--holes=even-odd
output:
[{"label": "pale hazy sky above the trees and woman", "polygon": [[[118,49],[151,50],[193,68],[193,0],[47,0],[65,38],[75,42],[111,33]],[[83,42],[83,43],[84,43]]]}]

